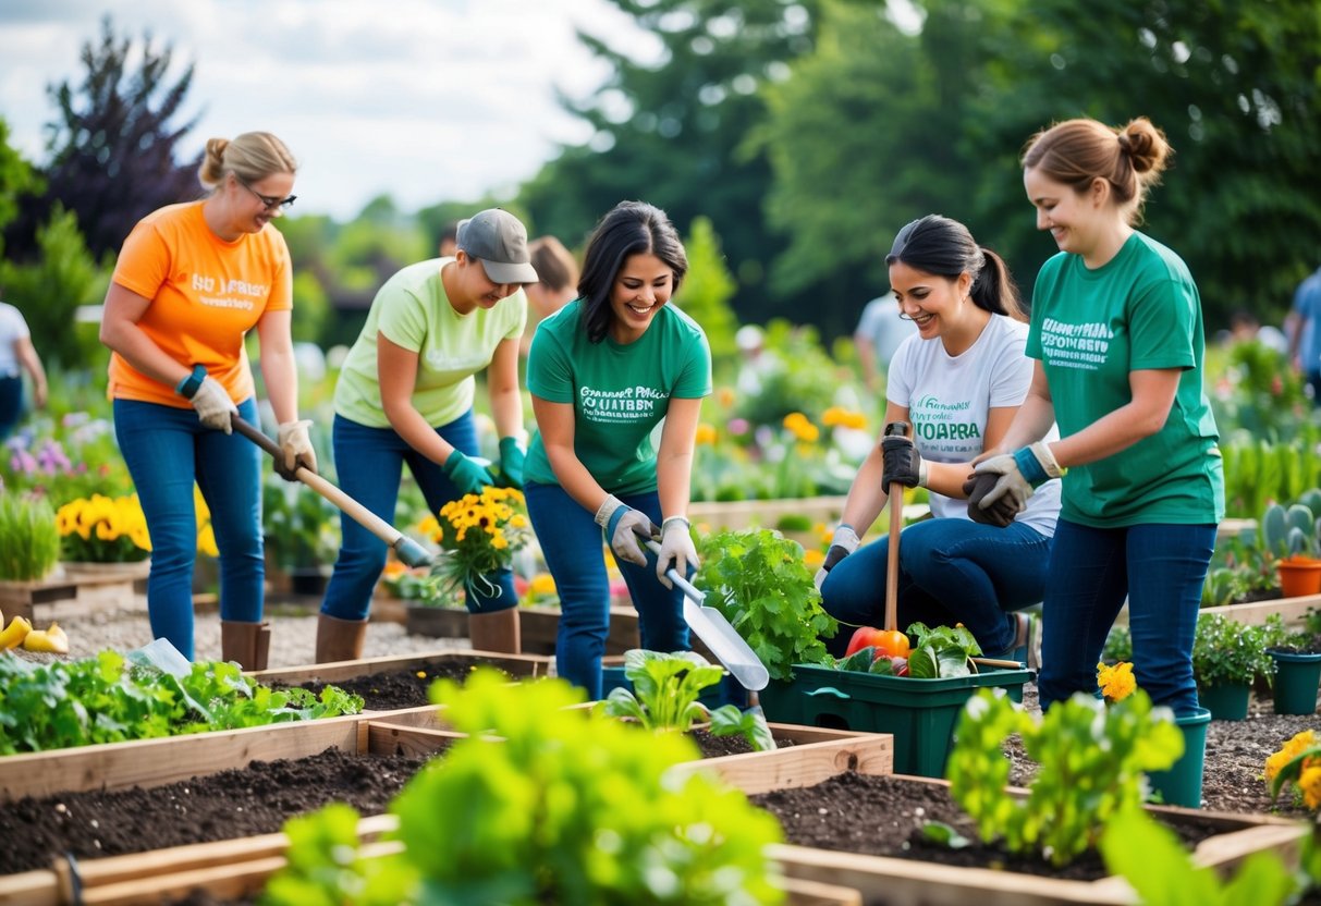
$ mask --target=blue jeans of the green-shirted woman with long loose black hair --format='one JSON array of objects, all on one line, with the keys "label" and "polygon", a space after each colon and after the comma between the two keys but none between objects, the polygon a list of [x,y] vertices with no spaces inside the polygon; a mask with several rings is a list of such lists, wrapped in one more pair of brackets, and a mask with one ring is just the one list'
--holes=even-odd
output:
[{"label": "blue jeans of the green-shirted woman with long loose black hair", "polygon": [[[605,572],[601,527],[559,485],[528,482],[527,515],[542,545],[546,567],[560,596],[560,629],[555,639],[555,670],[588,697],[601,697],[601,656],[610,631],[610,581]],[[655,491],[621,497],[625,505],[660,524],[660,498]],[[642,647],[647,651],[687,651],[688,625],[683,619],[683,592],[667,589],[655,567],[618,561],[638,610]]]}]

